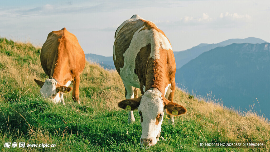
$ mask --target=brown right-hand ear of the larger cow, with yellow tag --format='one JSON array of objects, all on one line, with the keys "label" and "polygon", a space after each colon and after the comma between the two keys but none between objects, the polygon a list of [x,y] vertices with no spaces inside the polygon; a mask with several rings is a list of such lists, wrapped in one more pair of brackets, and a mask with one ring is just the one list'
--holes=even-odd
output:
[{"label": "brown right-hand ear of the larger cow, with yellow tag", "polygon": [[163,97],[163,102],[164,102],[164,109],[167,110],[167,114],[181,115],[187,112],[187,109],[185,107],[177,103],[171,102],[165,97]]}]

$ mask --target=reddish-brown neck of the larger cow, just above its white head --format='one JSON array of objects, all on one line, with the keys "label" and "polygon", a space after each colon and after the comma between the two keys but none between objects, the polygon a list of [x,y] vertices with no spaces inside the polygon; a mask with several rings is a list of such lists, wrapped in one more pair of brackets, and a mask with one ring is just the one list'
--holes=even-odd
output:
[{"label": "reddish-brown neck of the larger cow, just above its white head", "polygon": [[[166,87],[166,64],[162,64],[163,59],[153,60],[149,58],[146,70],[146,90],[150,88],[158,89],[163,95]],[[166,63],[166,62],[165,62]]]}]

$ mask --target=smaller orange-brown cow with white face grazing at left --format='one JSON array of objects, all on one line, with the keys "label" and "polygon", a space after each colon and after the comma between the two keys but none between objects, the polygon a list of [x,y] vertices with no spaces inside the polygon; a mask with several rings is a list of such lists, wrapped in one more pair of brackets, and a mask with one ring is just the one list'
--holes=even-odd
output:
[{"label": "smaller orange-brown cow with white face grazing at left", "polygon": [[80,103],[80,73],[85,67],[85,54],[76,36],[66,28],[50,32],[41,48],[40,62],[50,77],[45,82],[34,79],[41,87],[40,94],[55,104],[65,105],[63,94],[72,90],[68,87],[72,82],[72,99]]}]

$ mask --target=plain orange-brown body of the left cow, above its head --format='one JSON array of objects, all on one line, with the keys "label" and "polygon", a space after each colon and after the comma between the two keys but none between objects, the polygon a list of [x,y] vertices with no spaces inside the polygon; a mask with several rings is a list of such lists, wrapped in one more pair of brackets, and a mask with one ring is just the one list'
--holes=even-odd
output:
[{"label": "plain orange-brown body of the left cow, above its head", "polygon": [[82,72],[85,67],[85,54],[75,35],[66,28],[52,31],[42,46],[40,62],[45,73],[51,77],[55,67],[66,64],[68,71]]}]

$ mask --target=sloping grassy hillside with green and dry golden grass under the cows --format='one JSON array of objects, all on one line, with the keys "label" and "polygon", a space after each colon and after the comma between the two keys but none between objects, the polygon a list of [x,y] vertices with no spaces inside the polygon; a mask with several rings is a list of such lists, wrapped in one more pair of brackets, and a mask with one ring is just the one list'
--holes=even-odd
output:
[{"label": "sloping grassy hillside with green and dry golden grass under the cows", "polygon": [[[86,64],[81,74],[80,100],[64,95],[66,105],[54,105],[39,95],[33,81],[48,78],[40,65],[40,48],[0,39],[0,151],[268,151],[270,124],[249,112],[239,114],[218,103],[192,98],[177,89],[174,102],[187,108],[163,121],[160,141],[147,150],[139,145],[141,125],[127,124],[117,107],[124,87],[116,71]],[[166,119],[166,118],[164,118]],[[267,142],[264,149],[198,148],[200,141]],[[6,142],[56,144],[56,147],[4,148]]]}]

